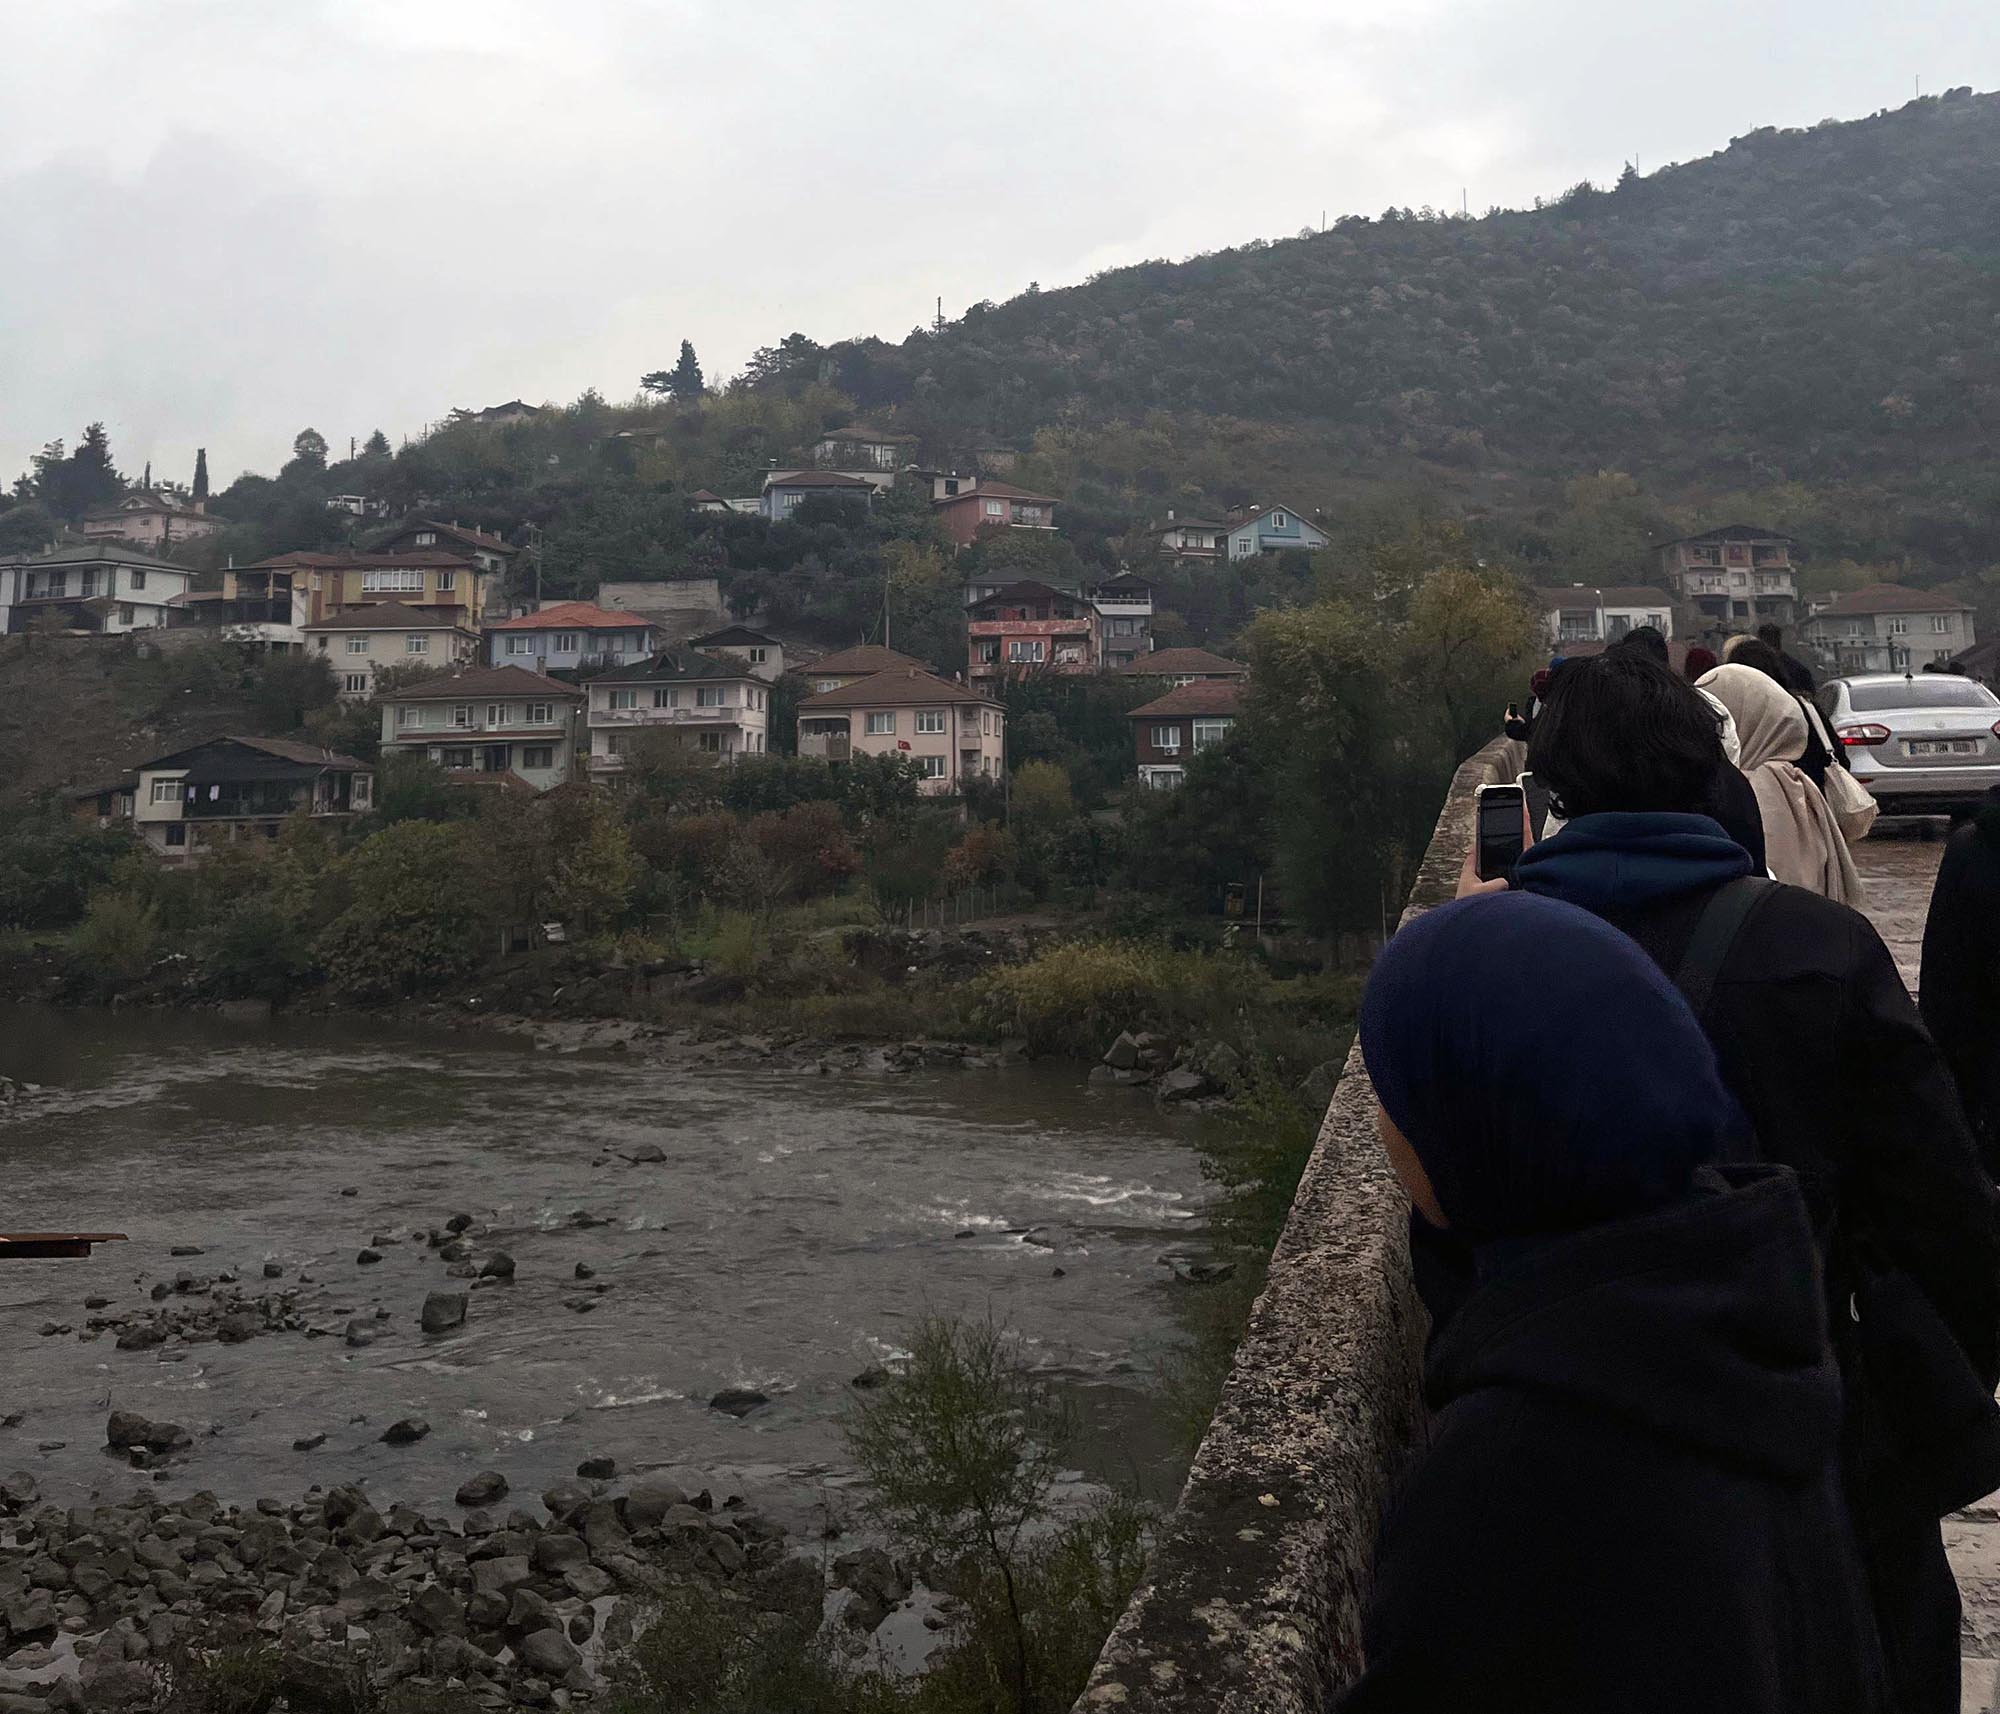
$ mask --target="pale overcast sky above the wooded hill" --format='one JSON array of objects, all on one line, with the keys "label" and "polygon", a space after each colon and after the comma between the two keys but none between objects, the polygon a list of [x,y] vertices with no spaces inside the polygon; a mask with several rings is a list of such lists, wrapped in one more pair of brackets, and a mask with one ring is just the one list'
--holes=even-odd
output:
[{"label": "pale overcast sky above the wooded hill", "polygon": [[8,0],[0,480],[274,470],[798,328],[2000,86],[1990,0]]}]

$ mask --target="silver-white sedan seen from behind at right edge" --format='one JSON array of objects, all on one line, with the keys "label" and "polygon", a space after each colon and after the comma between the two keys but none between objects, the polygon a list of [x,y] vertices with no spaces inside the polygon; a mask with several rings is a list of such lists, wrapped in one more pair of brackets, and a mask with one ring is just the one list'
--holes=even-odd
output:
[{"label": "silver-white sedan seen from behind at right edge", "polygon": [[1956,672],[1870,672],[1820,686],[1820,714],[1884,816],[1948,816],[2000,786],[2000,696]]}]

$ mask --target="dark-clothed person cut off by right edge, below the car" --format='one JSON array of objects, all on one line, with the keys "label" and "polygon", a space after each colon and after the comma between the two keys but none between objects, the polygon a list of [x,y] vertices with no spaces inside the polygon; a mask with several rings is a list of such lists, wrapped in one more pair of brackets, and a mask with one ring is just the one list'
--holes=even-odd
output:
[{"label": "dark-clothed person cut off by right edge, below the car", "polygon": [[2000,786],[1944,848],[1916,998],[2000,1176]]}]

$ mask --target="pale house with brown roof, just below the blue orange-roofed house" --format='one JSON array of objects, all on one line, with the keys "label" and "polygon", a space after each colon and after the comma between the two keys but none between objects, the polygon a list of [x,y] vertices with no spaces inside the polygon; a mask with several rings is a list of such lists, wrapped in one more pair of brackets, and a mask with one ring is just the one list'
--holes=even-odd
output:
[{"label": "pale house with brown roof, just below the blue orange-roofed house", "polygon": [[522,666],[442,672],[382,698],[382,756],[428,756],[464,784],[538,792],[576,774],[584,692]]}]

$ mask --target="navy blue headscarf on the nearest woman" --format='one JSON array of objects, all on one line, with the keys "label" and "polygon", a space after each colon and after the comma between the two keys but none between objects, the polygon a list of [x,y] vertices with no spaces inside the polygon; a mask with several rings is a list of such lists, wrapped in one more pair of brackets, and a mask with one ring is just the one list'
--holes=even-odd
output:
[{"label": "navy blue headscarf on the nearest woman", "polygon": [[1360,1036],[1376,1096],[1472,1242],[1656,1208],[1750,1138],[1674,984],[1552,898],[1420,916],[1376,960]]}]

